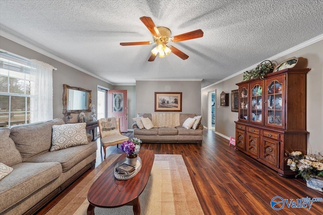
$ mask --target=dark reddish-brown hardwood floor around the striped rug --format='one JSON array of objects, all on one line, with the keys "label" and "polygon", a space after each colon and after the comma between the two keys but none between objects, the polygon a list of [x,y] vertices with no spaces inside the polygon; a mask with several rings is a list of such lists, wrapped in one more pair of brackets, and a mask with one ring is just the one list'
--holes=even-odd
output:
[{"label": "dark reddish-brown hardwood floor around the striped rug", "polygon": [[[132,137],[132,133],[126,135]],[[99,139],[96,166],[103,160]],[[203,130],[203,142],[195,144],[142,144],[143,149],[155,154],[180,154],[183,156],[193,186],[205,214],[323,214],[323,202],[313,202],[311,208],[296,208],[288,203],[305,197],[323,196],[322,192],[306,186],[302,179],[287,179],[277,172],[249,158],[234,147],[229,140],[212,131]],[[107,156],[120,153],[116,146],[106,149]],[[39,214],[55,205],[90,171],[51,201]],[[274,210],[271,200],[280,196],[285,201],[281,210]],[[277,199],[275,200],[277,202]],[[300,201],[298,201],[300,202]],[[282,206],[280,203],[278,206]],[[305,205],[305,204],[304,204]],[[306,204],[307,206],[307,204]]]}]

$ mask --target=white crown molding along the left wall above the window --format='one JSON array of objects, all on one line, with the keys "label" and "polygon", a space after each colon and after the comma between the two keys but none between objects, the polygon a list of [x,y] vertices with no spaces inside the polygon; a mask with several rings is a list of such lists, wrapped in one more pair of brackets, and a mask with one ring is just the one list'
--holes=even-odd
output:
[{"label": "white crown molding along the left wall above the window", "polygon": [[90,73],[89,71],[87,71],[87,70],[85,70],[85,69],[83,69],[83,68],[81,68],[81,67],[79,67],[77,65],[74,65],[73,63],[70,63],[70,62],[68,62],[68,61],[66,61],[66,60],[64,60],[64,59],[62,59],[62,58],[60,58],[60,57],[58,57],[56,55],[53,55],[53,54],[51,54],[51,53],[49,53],[49,52],[47,52],[47,51],[45,51],[45,50],[43,50],[41,48],[38,48],[38,47],[36,47],[36,46],[26,42],[26,41],[23,41],[22,39],[19,39],[19,38],[15,37],[15,36],[13,36],[11,34],[8,34],[7,32],[4,32],[3,30],[0,30],[0,36],[5,37],[5,38],[7,38],[7,39],[9,39],[11,41],[14,41],[15,43],[18,43],[18,44],[20,44],[22,46],[25,46],[25,47],[27,47],[27,48],[29,48],[31,50],[34,50],[34,51],[36,51],[36,52],[38,52],[40,54],[45,55],[47,57],[50,57],[50,58],[52,58],[54,60],[57,60],[57,61],[59,61],[61,63],[64,63],[65,65],[68,65],[68,66],[70,66],[72,68],[75,68],[75,69],[77,69],[79,71],[82,71],[82,73],[85,73],[85,74],[87,74],[89,76],[92,76],[92,77],[94,77],[96,79],[103,80],[106,83],[111,84],[111,85],[115,85],[114,83],[112,83],[112,82],[110,82],[110,81],[108,81],[108,80],[106,80],[106,79],[104,79],[102,77],[96,76],[93,73]]}]

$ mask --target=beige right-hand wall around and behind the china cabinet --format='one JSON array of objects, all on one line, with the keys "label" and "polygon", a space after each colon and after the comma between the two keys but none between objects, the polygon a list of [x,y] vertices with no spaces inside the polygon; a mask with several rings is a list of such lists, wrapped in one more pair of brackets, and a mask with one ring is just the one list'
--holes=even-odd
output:
[{"label": "beige right-hand wall around and behind the china cabinet", "polygon": [[[303,57],[307,63],[297,63],[296,67],[311,68],[307,74],[307,131],[309,132],[308,152],[323,152],[323,40],[294,51],[276,59],[279,63],[290,57]],[[238,71],[237,71],[238,72]],[[243,80],[242,75],[221,82],[217,85],[202,89],[202,124],[207,125],[207,92],[217,90],[217,104],[220,102],[220,93],[229,93],[229,107],[216,108],[216,131],[226,136],[235,136],[235,123],[238,112],[231,112],[231,91],[238,89],[235,85]]]}]

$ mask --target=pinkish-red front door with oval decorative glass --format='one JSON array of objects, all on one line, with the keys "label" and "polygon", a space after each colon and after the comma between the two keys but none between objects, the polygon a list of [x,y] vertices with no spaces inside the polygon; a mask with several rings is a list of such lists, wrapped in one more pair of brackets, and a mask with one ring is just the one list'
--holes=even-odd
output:
[{"label": "pinkish-red front door with oval decorative glass", "polygon": [[109,90],[108,116],[120,118],[120,131],[128,131],[127,90]]}]

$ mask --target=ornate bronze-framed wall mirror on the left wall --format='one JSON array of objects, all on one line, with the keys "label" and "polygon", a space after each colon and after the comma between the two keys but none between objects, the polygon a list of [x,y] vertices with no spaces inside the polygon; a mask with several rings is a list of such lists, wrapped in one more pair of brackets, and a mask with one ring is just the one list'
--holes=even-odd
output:
[{"label": "ornate bronze-framed wall mirror on the left wall", "polygon": [[91,112],[91,90],[63,85],[63,114]]}]

